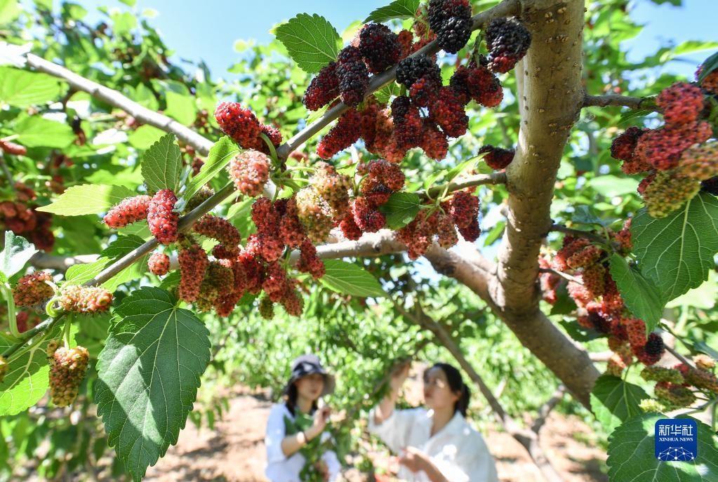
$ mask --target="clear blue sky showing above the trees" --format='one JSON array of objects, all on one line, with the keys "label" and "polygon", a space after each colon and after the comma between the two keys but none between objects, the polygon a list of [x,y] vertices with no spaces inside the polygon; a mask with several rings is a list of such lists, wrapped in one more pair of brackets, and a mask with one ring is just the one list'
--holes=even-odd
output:
[{"label": "clear blue sky showing above the trees", "polygon": [[[101,18],[98,6],[128,8],[118,0],[74,0],[90,11],[91,22]],[[367,14],[391,0],[363,0],[358,2],[337,0],[137,0],[138,12],[155,9],[156,18],[151,20],[167,45],[182,58],[205,60],[214,77],[227,77],[226,69],[238,60],[233,49],[237,39],[256,39],[269,42],[273,37],[269,29],[283,20],[306,12],[325,16],[342,32],[351,22],[364,19]],[[55,0],[57,6],[58,1]],[[629,58],[640,59],[663,44],[679,44],[685,40],[718,40],[715,22],[718,19],[718,0],[684,0],[684,6],[661,6],[650,0],[633,0],[633,17],[646,24],[641,34],[626,42]],[[690,76],[696,64],[712,51],[688,56],[689,62],[670,62],[664,68],[671,72]]]}]

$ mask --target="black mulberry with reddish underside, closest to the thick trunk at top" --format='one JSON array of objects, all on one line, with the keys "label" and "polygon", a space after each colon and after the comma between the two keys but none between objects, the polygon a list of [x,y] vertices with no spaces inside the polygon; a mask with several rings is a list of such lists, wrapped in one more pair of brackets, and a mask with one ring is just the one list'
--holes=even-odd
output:
[{"label": "black mulberry with reddish underside, closest to the thick trunk at top", "polygon": [[489,68],[505,73],[523,59],[531,46],[531,33],[516,19],[493,19],[486,29]]}]

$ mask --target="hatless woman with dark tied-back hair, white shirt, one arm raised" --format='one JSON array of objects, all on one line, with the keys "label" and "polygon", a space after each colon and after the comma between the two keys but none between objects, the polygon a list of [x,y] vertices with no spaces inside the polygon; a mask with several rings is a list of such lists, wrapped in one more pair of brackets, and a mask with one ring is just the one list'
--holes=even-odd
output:
[{"label": "hatless woman with dark tied-back hair, white shirt, one arm raised", "polygon": [[398,453],[398,477],[411,482],[498,482],[484,439],[465,420],[469,389],[459,370],[437,363],[424,372],[430,410],[394,410],[410,364],[394,372],[391,391],[369,414],[369,430]]}]

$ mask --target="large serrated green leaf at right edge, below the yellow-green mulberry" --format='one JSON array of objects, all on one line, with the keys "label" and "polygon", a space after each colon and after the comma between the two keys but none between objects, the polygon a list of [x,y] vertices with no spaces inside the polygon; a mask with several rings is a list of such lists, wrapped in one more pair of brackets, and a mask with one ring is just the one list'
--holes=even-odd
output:
[{"label": "large serrated green leaf at right edge, below the yellow-green mulberry", "polygon": [[633,252],[641,273],[671,301],[708,279],[718,252],[718,199],[699,193],[667,217],[655,219],[645,209],[630,227]]}]

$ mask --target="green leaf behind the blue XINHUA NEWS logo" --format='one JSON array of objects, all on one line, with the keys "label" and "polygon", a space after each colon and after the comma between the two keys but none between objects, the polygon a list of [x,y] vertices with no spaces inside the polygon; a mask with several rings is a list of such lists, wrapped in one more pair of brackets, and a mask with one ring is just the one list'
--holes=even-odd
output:
[{"label": "green leaf behind the blue XINHUA NEWS logo", "polygon": [[[718,438],[711,428],[696,420],[698,454],[694,460],[666,462],[656,458],[656,422],[668,416],[647,413],[631,418],[608,438],[610,481],[718,481]],[[682,418],[682,417],[679,417]],[[695,420],[691,417],[686,419]]]}]

